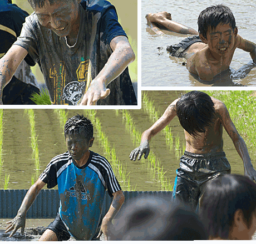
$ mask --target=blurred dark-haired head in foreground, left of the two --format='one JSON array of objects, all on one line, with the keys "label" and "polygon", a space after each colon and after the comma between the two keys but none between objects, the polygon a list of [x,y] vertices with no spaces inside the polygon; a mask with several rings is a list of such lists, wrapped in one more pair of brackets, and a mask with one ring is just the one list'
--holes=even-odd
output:
[{"label": "blurred dark-haired head in foreground, left of the two", "polygon": [[160,197],[135,197],[122,207],[110,240],[191,241],[208,240],[195,212]]}]

